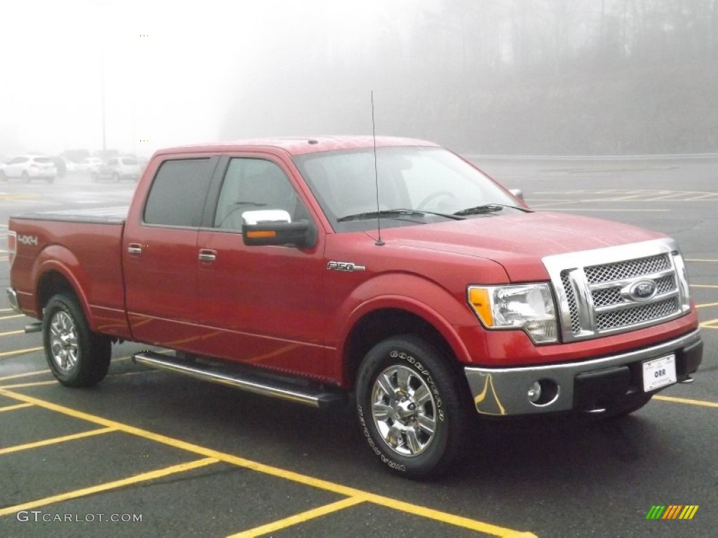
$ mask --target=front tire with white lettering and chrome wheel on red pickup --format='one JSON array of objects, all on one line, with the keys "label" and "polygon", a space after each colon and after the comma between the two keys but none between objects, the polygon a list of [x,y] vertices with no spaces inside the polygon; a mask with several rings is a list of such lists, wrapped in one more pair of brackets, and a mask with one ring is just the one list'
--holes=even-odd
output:
[{"label": "front tire with white lettering and chrome wheel on red pickup", "polygon": [[460,452],[467,391],[451,359],[417,336],[382,341],[357,379],[360,428],[370,448],[407,478],[438,476]]}]

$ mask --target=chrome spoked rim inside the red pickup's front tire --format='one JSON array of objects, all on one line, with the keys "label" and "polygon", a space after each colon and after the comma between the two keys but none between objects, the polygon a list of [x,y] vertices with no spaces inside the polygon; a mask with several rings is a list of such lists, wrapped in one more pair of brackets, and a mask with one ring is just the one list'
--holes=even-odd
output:
[{"label": "chrome spoked rim inside the red pickup's front tire", "polygon": [[372,416],[383,441],[401,456],[419,456],[432,443],[437,403],[419,374],[400,364],[388,367],[373,385]]}]

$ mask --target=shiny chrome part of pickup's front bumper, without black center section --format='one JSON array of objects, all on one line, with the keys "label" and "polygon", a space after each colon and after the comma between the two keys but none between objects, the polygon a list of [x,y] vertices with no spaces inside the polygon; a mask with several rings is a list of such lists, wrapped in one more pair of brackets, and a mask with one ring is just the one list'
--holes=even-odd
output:
[{"label": "shiny chrome part of pickup's front bumper, without black center section", "polygon": [[[476,410],[481,415],[508,416],[569,411],[574,406],[574,378],[577,374],[655,359],[700,344],[700,341],[699,331],[696,330],[657,346],[601,359],[536,367],[466,367],[465,374]],[[679,374],[679,380],[680,377]],[[556,394],[546,403],[533,403],[528,398],[528,391],[534,382],[540,380],[555,384]]]}]

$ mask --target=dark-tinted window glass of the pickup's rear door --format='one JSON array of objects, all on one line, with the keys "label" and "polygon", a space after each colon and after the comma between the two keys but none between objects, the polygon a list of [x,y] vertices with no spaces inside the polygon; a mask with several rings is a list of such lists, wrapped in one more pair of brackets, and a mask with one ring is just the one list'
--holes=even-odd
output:
[{"label": "dark-tinted window glass of the pickup's rear door", "polygon": [[213,169],[210,159],[164,161],[147,196],[145,224],[199,227]]}]

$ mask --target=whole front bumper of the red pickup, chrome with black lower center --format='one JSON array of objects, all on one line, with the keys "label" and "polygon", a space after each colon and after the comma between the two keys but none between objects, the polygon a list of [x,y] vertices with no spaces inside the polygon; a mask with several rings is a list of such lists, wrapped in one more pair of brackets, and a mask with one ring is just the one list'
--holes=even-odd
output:
[{"label": "whole front bumper of the red pickup, chrome with black lower center", "polygon": [[[681,382],[698,369],[702,351],[703,342],[696,330],[656,346],[600,359],[538,367],[466,367],[465,374],[481,415],[589,411],[643,392],[644,361],[675,354],[676,377]],[[555,386],[555,394],[546,402],[531,402],[528,391],[535,382]]]}]

